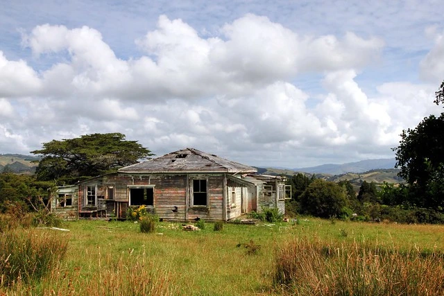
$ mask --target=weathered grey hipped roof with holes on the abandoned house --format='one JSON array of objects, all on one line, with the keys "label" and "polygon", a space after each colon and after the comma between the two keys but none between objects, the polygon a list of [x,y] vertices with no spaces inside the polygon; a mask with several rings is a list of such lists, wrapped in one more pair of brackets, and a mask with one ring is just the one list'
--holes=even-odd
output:
[{"label": "weathered grey hipped roof with holes on the abandoned house", "polygon": [[120,173],[255,173],[256,168],[185,148],[161,157],[119,168]]}]

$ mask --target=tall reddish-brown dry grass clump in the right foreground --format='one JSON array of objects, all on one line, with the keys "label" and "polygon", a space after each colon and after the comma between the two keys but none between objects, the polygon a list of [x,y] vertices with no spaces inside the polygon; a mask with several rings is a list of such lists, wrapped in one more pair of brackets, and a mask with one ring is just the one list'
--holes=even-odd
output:
[{"label": "tall reddish-brown dry grass clump in the right foreground", "polygon": [[297,238],[275,255],[275,288],[293,295],[444,295],[442,252]]}]

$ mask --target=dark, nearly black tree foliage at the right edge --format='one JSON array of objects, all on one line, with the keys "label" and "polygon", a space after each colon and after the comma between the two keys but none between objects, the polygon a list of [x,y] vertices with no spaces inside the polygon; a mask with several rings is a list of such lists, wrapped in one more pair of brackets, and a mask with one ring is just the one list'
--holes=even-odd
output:
[{"label": "dark, nearly black tree foliage at the right edge", "polygon": [[[437,98],[438,99],[438,98]],[[404,130],[394,148],[400,177],[409,184],[409,202],[417,207],[444,207],[444,113],[430,115]]]}]

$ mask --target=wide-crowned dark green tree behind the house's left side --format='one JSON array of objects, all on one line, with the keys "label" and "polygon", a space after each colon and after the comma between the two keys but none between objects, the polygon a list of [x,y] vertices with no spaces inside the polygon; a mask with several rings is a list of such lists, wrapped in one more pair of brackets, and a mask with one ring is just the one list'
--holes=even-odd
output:
[{"label": "wide-crowned dark green tree behind the house's left side", "polygon": [[118,132],[53,140],[31,153],[43,156],[35,171],[38,180],[65,182],[117,171],[153,155],[151,150],[137,141],[125,140],[125,135]]}]

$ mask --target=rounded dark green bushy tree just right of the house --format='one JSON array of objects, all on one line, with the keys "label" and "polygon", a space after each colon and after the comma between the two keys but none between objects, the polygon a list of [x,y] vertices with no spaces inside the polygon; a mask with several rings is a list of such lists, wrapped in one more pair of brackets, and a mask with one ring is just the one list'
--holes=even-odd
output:
[{"label": "rounded dark green bushy tree just right of the house", "polygon": [[321,218],[344,214],[348,200],[345,190],[334,182],[316,179],[300,195],[300,206],[306,214]]}]

